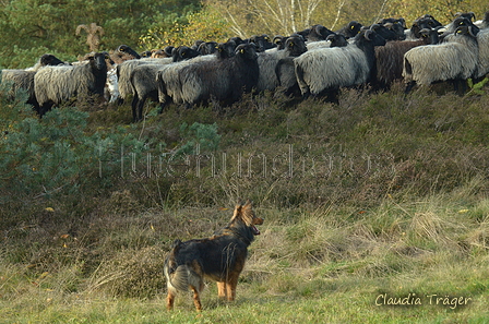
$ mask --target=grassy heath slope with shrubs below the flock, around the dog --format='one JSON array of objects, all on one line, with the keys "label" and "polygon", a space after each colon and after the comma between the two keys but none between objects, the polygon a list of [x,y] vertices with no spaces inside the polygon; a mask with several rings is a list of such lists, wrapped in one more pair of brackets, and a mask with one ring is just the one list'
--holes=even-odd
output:
[{"label": "grassy heath slope with shrubs below the flock, around the dog", "polygon": [[[131,123],[0,95],[0,323],[489,323],[489,96],[272,94]],[[86,106],[86,107],[85,107]],[[264,217],[237,300],[165,309],[171,242]]]}]

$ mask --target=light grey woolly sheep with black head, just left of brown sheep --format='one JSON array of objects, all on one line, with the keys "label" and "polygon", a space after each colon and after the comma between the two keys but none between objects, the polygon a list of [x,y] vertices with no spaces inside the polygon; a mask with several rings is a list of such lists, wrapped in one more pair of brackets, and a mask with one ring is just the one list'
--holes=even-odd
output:
[{"label": "light grey woolly sheep with black head, just left of brown sheep", "polygon": [[371,29],[362,31],[346,47],[309,50],[294,59],[297,82],[303,97],[327,95],[336,101],[341,87],[369,81],[374,64],[374,46],[385,39]]}]

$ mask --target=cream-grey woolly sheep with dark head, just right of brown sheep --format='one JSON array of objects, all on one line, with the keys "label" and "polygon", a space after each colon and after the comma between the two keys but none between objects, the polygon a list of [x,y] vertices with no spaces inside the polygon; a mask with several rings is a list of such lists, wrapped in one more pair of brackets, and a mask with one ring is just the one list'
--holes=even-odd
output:
[{"label": "cream-grey woolly sheep with dark head, just right of brown sheep", "polygon": [[416,84],[430,85],[438,81],[472,77],[478,62],[477,31],[472,26],[460,26],[442,44],[408,50],[404,55],[403,69],[406,93]]}]

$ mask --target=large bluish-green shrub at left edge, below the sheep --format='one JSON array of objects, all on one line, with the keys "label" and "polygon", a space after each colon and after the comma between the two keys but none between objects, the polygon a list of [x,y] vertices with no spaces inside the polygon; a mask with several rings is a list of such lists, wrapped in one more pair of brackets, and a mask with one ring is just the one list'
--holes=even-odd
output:
[{"label": "large bluish-green shrub at left edge, below the sheep", "polygon": [[107,161],[105,176],[118,176],[115,172],[123,157],[114,154],[116,149],[130,147],[138,154],[145,149],[123,128],[112,133],[88,132],[88,113],[74,107],[52,109],[39,119],[21,103],[1,103],[5,130],[0,139],[0,203],[74,193],[103,176],[103,161]]}]

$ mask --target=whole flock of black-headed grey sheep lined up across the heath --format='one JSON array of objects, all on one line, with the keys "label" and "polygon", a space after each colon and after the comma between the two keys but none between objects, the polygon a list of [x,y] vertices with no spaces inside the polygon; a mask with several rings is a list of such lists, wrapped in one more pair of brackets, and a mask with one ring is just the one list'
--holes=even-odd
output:
[{"label": "whole flock of black-headed grey sheep lined up across the heath", "polygon": [[445,26],[429,14],[409,28],[404,19],[371,26],[353,21],[336,32],[314,25],[273,40],[232,37],[141,55],[121,45],[111,55],[91,53],[76,63],[45,55],[33,68],[3,70],[2,83],[11,84],[12,95],[25,89],[40,116],[74,97],[105,95],[116,103],[132,96],[134,121],[143,118],[147,98],[159,101],[160,109],[170,101],[230,105],[243,93],[264,91],[336,101],[342,87],[370,84],[384,91],[404,80],[408,92],[415,85],[485,77],[489,12],[474,21],[472,12]]}]

